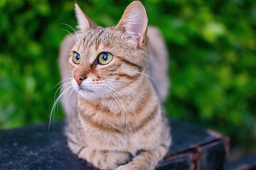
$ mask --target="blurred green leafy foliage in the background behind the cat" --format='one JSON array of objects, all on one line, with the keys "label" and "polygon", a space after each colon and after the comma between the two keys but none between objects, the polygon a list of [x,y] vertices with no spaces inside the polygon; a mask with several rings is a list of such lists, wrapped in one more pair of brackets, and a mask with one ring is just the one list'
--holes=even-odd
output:
[{"label": "blurred green leafy foliage in the background behind the cat", "polygon": [[[117,24],[130,2],[78,0],[105,27]],[[169,48],[168,114],[228,135],[231,152],[255,151],[256,1],[142,3]],[[63,23],[76,26],[73,0],[0,1],[0,129],[49,120],[60,42],[73,33]]]}]

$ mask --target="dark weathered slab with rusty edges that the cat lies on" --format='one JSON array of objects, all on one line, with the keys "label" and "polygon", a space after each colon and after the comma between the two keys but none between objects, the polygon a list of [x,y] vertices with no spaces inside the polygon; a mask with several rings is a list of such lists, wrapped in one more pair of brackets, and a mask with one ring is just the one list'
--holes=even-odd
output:
[{"label": "dark weathered slab with rusty edges that the cat lies on", "polygon": [[[225,137],[178,120],[170,124],[173,145],[156,169],[225,168]],[[49,132],[47,123],[1,130],[0,169],[95,169],[70,152],[63,127],[64,122],[58,121]]]}]

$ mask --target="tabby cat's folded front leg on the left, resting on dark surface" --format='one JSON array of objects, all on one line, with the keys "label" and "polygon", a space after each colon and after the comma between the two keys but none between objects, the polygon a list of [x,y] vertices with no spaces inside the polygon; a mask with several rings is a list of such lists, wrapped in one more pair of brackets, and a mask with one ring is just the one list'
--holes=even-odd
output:
[{"label": "tabby cat's folded front leg on the left, resting on dark surface", "polygon": [[68,140],[68,146],[79,158],[85,159],[98,169],[115,169],[117,166],[126,164],[132,159],[129,152],[114,152],[107,150],[97,150],[90,147],[83,147]]}]

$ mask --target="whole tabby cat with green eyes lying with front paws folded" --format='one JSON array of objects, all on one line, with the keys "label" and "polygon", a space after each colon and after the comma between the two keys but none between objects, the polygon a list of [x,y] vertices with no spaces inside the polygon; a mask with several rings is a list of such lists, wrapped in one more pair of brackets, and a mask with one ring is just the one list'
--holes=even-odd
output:
[{"label": "whole tabby cat with green eyes lying with front paws folded", "polygon": [[171,145],[159,30],[147,26],[140,1],[110,28],[97,26],[76,2],[75,13],[79,32],[63,40],[59,57],[68,147],[98,169],[155,169]]}]

